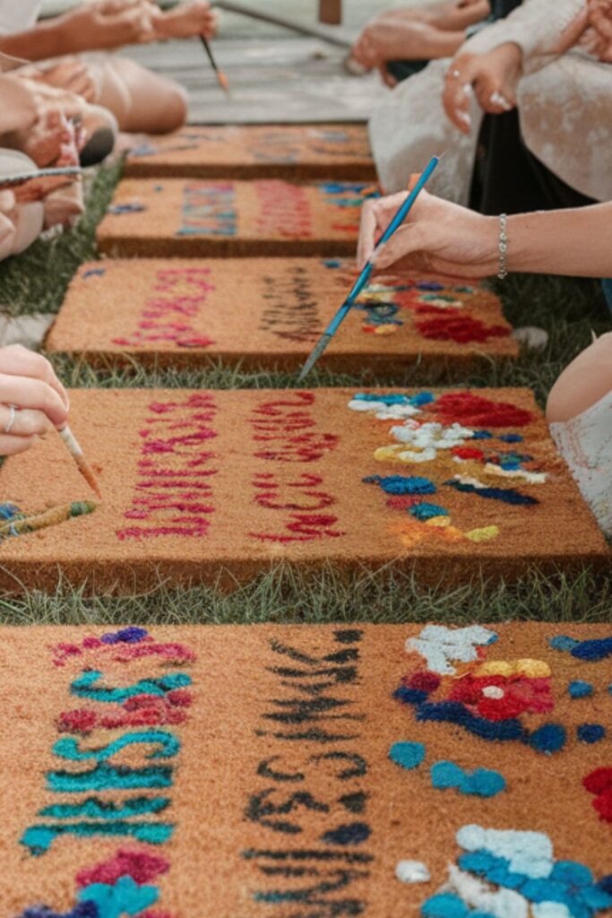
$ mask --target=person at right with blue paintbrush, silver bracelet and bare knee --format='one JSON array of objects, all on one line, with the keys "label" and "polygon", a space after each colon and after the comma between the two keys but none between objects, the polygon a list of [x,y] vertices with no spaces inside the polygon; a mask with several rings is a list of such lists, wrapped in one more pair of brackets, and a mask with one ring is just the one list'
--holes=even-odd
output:
[{"label": "person at right with blue paintbrush, silver bracelet and bare knee", "polygon": [[[404,194],[363,206],[360,267],[480,278],[506,269],[536,274],[612,276],[612,202],[507,218],[506,256],[500,220],[421,192],[406,224],[384,247],[374,244]],[[612,308],[612,304],[611,304]],[[612,535],[612,333],[596,339],[562,372],[546,417],[560,453],[606,535]]]}]

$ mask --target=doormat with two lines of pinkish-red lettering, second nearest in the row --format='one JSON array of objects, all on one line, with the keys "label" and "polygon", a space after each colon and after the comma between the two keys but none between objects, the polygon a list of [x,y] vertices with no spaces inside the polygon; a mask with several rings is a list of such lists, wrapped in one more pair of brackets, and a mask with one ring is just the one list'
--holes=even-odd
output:
[{"label": "doormat with two lines of pinkish-red lettering, second nearest in the row", "polygon": [[[217,582],[281,560],[451,582],[609,559],[528,390],[81,389],[71,404],[104,499],[39,532],[6,524],[3,587],[58,569],[96,589]],[[92,498],[57,437],[9,459],[0,493],[25,512]]]}]

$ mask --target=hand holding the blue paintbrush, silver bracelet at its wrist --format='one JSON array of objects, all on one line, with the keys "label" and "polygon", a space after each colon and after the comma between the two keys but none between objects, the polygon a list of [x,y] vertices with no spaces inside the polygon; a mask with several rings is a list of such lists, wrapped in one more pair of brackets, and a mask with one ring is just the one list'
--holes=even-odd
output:
[{"label": "hand holding the blue paintbrush, silver bracelet at its wrist", "polygon": [[[362,208],[357,260],[373,255],[376,240],[395,217],[406,192],[366,201]],[[404,226],[375,253],[376,270],[424,271],[453,277],[486,277],[499,268],[499,224],[422,191]]]}]

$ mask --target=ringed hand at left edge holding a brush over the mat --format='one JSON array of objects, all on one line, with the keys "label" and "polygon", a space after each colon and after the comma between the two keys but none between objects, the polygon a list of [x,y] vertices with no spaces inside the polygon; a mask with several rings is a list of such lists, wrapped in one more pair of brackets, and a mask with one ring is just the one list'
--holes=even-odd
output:
[{"label": "ringed hand at left edge holding a brush over the mat", "polygon": [[50,427],[63,427],[68,409],[48,360],[20,344],[0,348],[0,455],[23,453]]}]

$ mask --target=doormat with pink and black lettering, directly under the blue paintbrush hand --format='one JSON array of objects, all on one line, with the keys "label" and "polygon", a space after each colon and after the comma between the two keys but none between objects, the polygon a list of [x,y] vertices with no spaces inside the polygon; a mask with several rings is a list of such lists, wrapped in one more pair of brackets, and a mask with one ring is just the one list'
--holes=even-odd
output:
[{"label": "doormat with pink and black lettering, directly under the blue paintbrush hand", "polygon": [[[139,259],[83,264],[47,350],[140,362],[304,364],[356,278],[340,259]],[[514,357],[501,303],[478,286],[421,275],[379,274],[321,361],[379,370],[417,360],[458,364]]]}]

